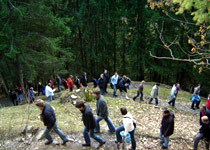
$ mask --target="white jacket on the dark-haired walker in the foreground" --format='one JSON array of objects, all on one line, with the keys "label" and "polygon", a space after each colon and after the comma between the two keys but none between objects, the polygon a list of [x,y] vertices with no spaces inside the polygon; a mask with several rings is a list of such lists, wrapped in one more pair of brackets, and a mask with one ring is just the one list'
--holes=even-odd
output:
[{"label": "white jacket on the dark-haired walker in the foreground", "polygon": [[133,125],[133,117],[132,115],[128,112],[124,117],[123,117],[123,126],[125,128],[125,133],[124,135],[126,136],[128,132],[131,132],[134,130],[134,125]]}]

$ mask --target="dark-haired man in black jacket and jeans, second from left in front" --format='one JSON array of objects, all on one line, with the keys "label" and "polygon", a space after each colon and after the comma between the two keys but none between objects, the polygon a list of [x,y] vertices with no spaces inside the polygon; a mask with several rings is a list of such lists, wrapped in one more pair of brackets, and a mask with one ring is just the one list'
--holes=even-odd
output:
[{"label": "dark-haired man in black jacket and jeans, second from left in front", "polygon": [[[93,116],[93,113],[92,113],[90,107],[85,105],[84,102],[81,102],[81,101],[78,101],[75,104],[75,107],[81,111],[82,121],[85,126],[84,131],[83,131],[85,144],[82,144],[82,146],[86,146],[86,147],[91,146],[90,137],[92,137],[93,139],[95,139],[96,141],[99,142],[99,145],[97,147],[99,149],[106,142],[104,142],[104,140],[101,139],[100,137],[94,135],[94,128],[96,127],[96,121],[95,121],[95,117]],[[88,132],[90,132],[90,137],[89,137]]]}]

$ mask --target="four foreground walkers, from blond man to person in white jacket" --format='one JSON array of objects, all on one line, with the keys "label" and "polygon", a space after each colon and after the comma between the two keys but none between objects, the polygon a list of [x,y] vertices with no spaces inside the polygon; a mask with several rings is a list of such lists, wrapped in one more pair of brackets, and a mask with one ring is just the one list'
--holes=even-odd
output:
[{"label": "four foreground walkers, from blond man to person in white jacket", "polygon": [[[123,142],[123,138],[126,137],[128,134],[130,134],[131,137],[131,148],[130,150],[136,149],[136,140],[135,140],[135,120],[133,119],[132,115],[127,111],[125,107],[121,108],[121,114],[123,115],[123,125],[115,128],[111,120],[109,119],[109,110],[107,103],[104,99],[104,97],[100,94],[101,91],[95,90],[93,92],[93,97],[96,99],[96,114],[97,117],[95,118],[91,108],[84,104],[82,101],[77,101],[74,105],[75,107],[81,111],[82,113],[82,121],[84,124],[84,130],[83,130],[83,136],[85,143],[82,144],[84,147],[91,146],[91,140],[90,137],[95,139],[97,142],[99,142],[99,145],[97,148],[102,147],[106,142],[99,136],[95,135],[96,133],[100,132],[100,124],[99,122],[101,120],[106,121],[107,126],[109,128],[109,131],[111,133],[116,134],[116,141],[117,147],[119,148],[121,143]],[[47,138],[47,141],[45,142],[46,145],[49,145],[53,142],[53,139],[50,135],[50,131],[54,130],[55,133],[57,133],[61,139],[63,140],[62,145],[65,145],[70,140],[64,133],[59,130],[57,126],[57,120],[55,116],[55,112],[53,108],[48,104],[45,103],[43,100],[38,99],[34,102],[34,104],[41,110],[41,120],[43,121],[44,125],[46,126],[46,129],[44,131],[44,136]],[[120,132],[124,131],[123,137],[121,136]]]}]

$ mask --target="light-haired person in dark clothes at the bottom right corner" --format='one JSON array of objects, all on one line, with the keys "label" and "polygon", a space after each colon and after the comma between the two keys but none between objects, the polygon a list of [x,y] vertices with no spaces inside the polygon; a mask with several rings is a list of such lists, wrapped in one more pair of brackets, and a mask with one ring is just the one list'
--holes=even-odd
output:
[{"label": "light-haired person in dark clothes at the bottom right corner", "polygon": [[209,149],[209,141],[210,141],[210,123],[209,118],[207,116],[203,116],[201,118],[202,125],[199,130],[198,135],[194,140],[193,150],[197,150],[199,141],[204,138],[206,144],[206,150]]}]

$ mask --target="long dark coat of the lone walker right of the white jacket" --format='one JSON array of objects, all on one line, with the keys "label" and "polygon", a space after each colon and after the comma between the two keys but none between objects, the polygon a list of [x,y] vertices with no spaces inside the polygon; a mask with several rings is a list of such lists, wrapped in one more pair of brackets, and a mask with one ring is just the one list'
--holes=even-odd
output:
[{"label": "long dark coat of the lone walker right of the white jacket", "polygon": [[163,116],[160,131],[164,137],[168,137],[174,133],[174,114]]}]

